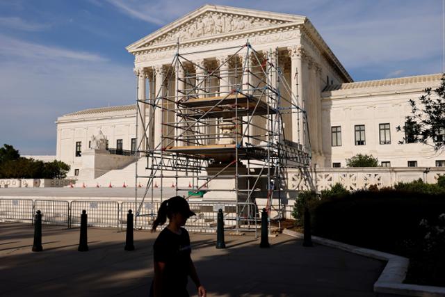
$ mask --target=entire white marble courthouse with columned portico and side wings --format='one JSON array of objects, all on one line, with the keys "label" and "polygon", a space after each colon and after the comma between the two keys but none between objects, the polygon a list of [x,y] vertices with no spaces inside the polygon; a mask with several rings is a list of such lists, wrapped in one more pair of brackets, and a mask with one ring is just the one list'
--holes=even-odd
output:
[{"label": "entire white marble courthouse with columned portico and side wings", "polygon": [[[249,46],[242,48],[246,44]],[[246,56],[248,48],[252,51]],[[157,102],[163,107],[156,110],[153,104],[141,102],[157,97],[179,98],[179,93],[184,93],[181,90],[194,87],[195,99],[213,98],[217,93],[233,92],[238,84],[247,86],[246,92],[252,95],[263,88],[261,77],[255,74],[261,71],[255,71],[266,63],[276,69],[275,76],[270,75],[271,89],[304,110],[299,115],[283,114],[281,133],[291,146],[309,148],[309,166],[316,168],[312,174],[318,189],[335,182],[350,188],[386,186],[419,177],[434,182],[442,172],[439,167],[445,166],[445,156],[435,154],[427,145],[399,145],[403,134],[396,132],[411,111],[408,100],[419,98],[425,88],[438,86],[442,75],[355,82],[307,17],[206,5],[149,33],[129,45],[127,51],[134,56],[138,77],[137,104],[76,111],[57,119],[57,159],[70,164],[69,176],[81,182],[136,185],[133,152],[163,147],[168,142],[163,134],[172,131],[165,123],[175,122],[173,99]],[[178,52],[184,55],[184,63],[172,67]],[[245,69],[252,71],[229,75],[231,71],[244,73]],[[209,73],[212,75],[205,75]],[[195,78],[190,79],[193,75]],[[168,80],[174,82],[165,83]],[[261,109],[259,101],[254,111]],[[224,114],[218,117],[224,118]],[[243,113],[237,118],[247,116]],[[202,128],[206,132],[201,135],[216,137],[202,137],[201,141],[207,147],[235,144],[236,136],[228,140],[220,136],[227,131],[236,134],[238,126],[247,127],[245,121],[239,121],[244,126],[235,122],[230,127],[225,120],[224,125]],[[267,142],[261,134],[266,127],[261,119],[248,124],[252,129],[246,128],[245,133],[253,138],[248,145],[260,147]],[[179,143],[176,147],[184,147],[186,138],[175,141]],[[358,153],[372,154],[382,167],[345,168],[345,159]],[[139,166],[138,172],[146,172],[145,167]],[[301,172],[289,169],[287,174],[289,188],[303,188]]]}]

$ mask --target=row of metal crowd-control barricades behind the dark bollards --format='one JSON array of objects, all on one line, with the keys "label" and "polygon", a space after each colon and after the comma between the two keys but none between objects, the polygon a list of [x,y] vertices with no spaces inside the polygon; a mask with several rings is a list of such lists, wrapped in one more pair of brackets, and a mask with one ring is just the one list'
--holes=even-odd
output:
[{"label": "row of metal crowd-control barricades behind the dark bollards", "polygon": [[[189,202],[196,216],[188,218],[186,228],[192,232],[216,232],[218,210],[223,209],[225,230],[257,230],[261,218],[254,203]],[[138,205],[139,206],[139,205]],[[136,229],[151,229],[161,202],[144,202],[138,216],[133,216]],[[0,199],[0,221],[32,223],[35,211],[42,213],[42,223],[77,227],[81,213],[86,210],[88,225],[93,227],[127,227],[129,209],[136,213],[134,202],[104,200],[30,200]],[[240,214],[240,215],[237,215]],[[160,226],[161,228],[162,226]]]}]

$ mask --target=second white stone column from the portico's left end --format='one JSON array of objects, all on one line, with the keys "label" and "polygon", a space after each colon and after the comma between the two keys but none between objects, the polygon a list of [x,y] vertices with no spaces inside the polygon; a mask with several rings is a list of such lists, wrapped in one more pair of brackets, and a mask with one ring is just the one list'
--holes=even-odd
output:
[{"label": "second white stone column from the portico's left end", "polygon": [[161,150],[162,144],[162,129],[163,129],[163,112],[162,112],[162,104],[163,104],[163,95],[164,95],[164,78],[165,72],[163,70],[162,65],[157,65],[154,67],[154,71],[156,72],[156,86],[154,89],[156,96],[156,107],[154,109],[154,148],[156,150]]}]

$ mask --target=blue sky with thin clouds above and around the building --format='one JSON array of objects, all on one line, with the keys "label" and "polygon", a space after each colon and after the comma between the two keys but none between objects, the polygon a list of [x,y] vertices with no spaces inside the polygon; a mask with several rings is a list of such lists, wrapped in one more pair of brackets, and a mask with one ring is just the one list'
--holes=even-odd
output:
[{"label": "blue sky with thin clouds above and around the building", "polygon": [[206,3],[309,17],[355,81],[443,71],[442,0],[0,0],[0,145],[54,155],[60,115],[133,104],[125,47]]}]

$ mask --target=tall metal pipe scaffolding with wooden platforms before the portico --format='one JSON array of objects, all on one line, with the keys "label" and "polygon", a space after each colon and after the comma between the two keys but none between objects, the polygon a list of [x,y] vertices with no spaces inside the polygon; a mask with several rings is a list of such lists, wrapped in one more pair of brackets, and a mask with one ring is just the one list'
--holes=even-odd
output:
[{"label": "tall metal pipe scaffolding with wooden platforms before the portico", "polygon": [[[143,216],[145,201],[154,202],[156,187],[161,186],[156,191],[165,199],[163,186],[171,180],[175,194],[186,199],[202,193],[204,200],[211,193],[234,198],[236,228],[241,228],[257,218],[257,207],[245,208],[256,205],[258,198],[266,198],[269,214],[275,211],[275,218],[282,217],[286,169],[298,168],[309,178],[307,113],[298,91],[292,93],[284,79],[278,49],[259,52],[247,41],[211,51],[222,50],[232,54],[204,67],[192,58],[209,51],[181,54],[178,42],[161,88],[156,94],[150,88],[146,99],[137,99],[136,118],[142,124],[136,122],[136,130],[143,129],[145,137],[136,143],[147,173],[138,174],[137,158],[136,218]],[[289,140],[284,122],[298,129],[298,139]],[[144,188],[138,189],[140,184]],[[138,191],[143,191],[142,198]]]}]

